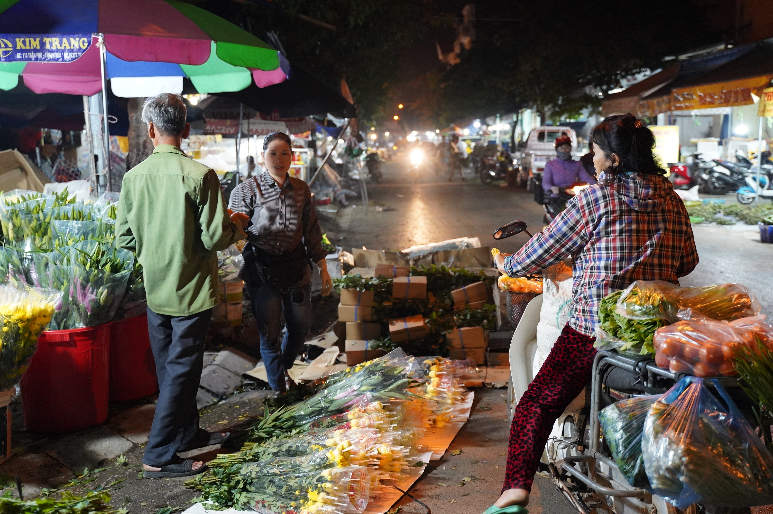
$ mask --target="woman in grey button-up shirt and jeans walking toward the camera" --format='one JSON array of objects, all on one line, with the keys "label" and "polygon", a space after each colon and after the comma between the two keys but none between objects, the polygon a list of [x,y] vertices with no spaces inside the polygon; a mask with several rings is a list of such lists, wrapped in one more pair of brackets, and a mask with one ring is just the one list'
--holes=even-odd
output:
[{"label": "woman in grey button-up shirt and jeans walking toward the camera", "polygon": [[[288,175],[290,137],[282,132],[268,134],[263,158],[266,171],[237,186],[229,207],[250,216],[239,276],[257,321],[268,384],[284,391],[290,383],[287,370],[311,326],[311,262],[319,267],[323,296],[330,294],[332,282],[312,193],[306,182]],[[282,315],[288,330],[280,341]]]}]

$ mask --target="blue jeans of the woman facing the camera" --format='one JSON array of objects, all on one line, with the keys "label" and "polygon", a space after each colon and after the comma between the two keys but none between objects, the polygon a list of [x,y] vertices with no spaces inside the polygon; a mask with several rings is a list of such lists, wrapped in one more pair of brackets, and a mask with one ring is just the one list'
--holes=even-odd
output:
[{"label": "blue jeans of the woman facing the camera", "polygon": [[[247,282],[245,285],[257,332],[261,335],[261,358],[266,366],[268,385],[274,391],[284,391],[284,372],[295,363],[312,327],[312,286],[289,288],[284,292],[269,285],[262,289]],[[283,313],[288,332],[280,342]]]}]

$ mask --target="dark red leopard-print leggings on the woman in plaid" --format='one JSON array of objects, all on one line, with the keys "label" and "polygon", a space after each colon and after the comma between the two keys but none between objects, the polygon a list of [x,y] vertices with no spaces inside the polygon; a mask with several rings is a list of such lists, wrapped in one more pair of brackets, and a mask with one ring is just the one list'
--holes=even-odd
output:
[{"label": "dark red leopard-print leggings on the woman in plaid", "polygon": [[531,491],[553,423],[591,380],[594,338],[569,325],[518,402],[510,425],[505,485]]}]

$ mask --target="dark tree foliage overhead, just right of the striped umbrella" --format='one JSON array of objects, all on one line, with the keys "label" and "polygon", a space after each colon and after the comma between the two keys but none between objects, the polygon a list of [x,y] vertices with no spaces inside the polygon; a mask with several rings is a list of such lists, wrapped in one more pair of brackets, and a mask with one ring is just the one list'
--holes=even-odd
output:
[{"label": "dark tree foliage overhead, just right of the striped umbrella", "polygon": [[397,80],[400,50],[438,23],[436,0],[206,0],[199,5],[281,46],[291,63],[337,91],[346,78],[359,117],[366,121],[387,101]]}]

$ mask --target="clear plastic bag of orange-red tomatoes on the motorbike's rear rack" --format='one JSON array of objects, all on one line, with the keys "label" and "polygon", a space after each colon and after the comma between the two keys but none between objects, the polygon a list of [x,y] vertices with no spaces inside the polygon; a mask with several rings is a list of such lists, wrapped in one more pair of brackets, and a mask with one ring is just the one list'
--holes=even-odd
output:
[{"label": "clear plastic bag of orange-red tomatoes on the motorbike's rear rack", "polygon": [[751,346],[754,335],[773,341],[773,327],[764,315],[720,322],[692,318],[656,330],[655,361],[673,373],[734,376],[733,357],[740,346]]}]

